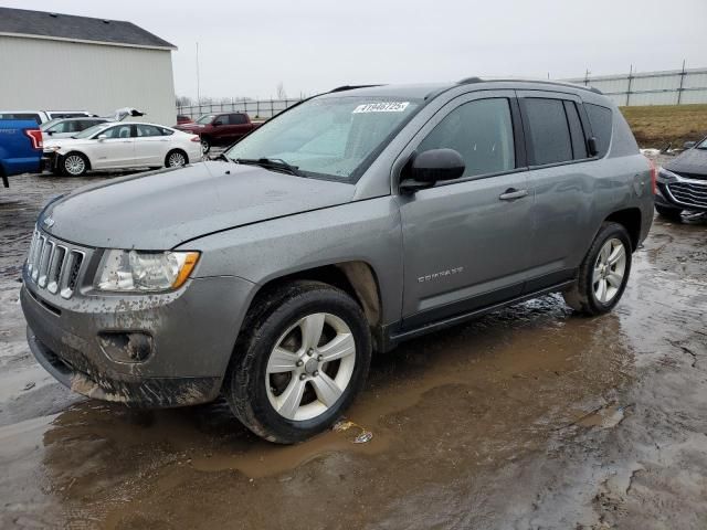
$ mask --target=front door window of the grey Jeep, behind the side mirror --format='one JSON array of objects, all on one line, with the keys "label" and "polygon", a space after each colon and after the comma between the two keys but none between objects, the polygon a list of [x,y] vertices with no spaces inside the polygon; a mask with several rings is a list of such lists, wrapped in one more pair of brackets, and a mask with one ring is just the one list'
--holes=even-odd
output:
[{"label": "front door window of the grey Jeep, behind the side mirror", "polygon": [[464,177],[498,173],[516,167],[510,106],[506,98],[477,99],[447,114],[418,151],[454,149],[464,159]]}]

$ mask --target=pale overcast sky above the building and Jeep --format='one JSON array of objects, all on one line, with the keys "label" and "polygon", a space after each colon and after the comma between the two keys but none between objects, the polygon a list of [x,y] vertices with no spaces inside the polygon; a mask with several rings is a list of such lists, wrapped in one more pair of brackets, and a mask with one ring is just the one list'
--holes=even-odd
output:
[{"label": "pale overcast sky above the building and Jeep", "polygon": [[[178,95],[272,97],[345,84],[553,78],[707,66],[705,0],[0,0],[128,20],[170,41]],[[1,53],[1,51],[0,51]]]}]

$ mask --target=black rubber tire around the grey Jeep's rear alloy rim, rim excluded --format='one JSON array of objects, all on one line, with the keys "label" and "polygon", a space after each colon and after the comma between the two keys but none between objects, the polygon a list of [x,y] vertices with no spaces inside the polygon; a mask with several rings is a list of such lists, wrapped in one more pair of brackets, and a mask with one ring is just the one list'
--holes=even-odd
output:
[{"label": "black rubber tire around the grey Jeep's rear alloy rim, rim excluded", "polygon": [[[621,280],[621,285],[618,287],[618,290],[615,292],[615,294],[613,294],[611,299],[602,301],[598,298],[594,290],[594,286],[598,285],[593,282],[594,266],[598,264],[599,254],[602,251],[602,247],[604,246],[604,244],[606,244],[606,242],[612,240],[618,240],[623,244],[625,253],[625,266],[623,278]],[[629,232],[626,232],[626,229],[619,223],[603,223],[599,231],[599,234],[597,234],[597,237],[594,237],[594,241],[589,248],[587,256],[584,256],[584,259],[579,267],[577,280],[568,290],[562,293],[567,305],[587,316],[603,315],[611,311],[619,303],[624,289],[626,288],[626,283],[631,274],[631,237],[629,236]]]}]

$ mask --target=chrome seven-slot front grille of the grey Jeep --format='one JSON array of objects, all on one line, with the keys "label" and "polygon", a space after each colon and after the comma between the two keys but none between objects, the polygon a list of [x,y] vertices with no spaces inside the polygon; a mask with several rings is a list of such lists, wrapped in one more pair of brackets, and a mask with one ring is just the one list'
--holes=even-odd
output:
[{"label": "chrome seven-slot front grille of the grey Jeep", "polygon": [[27,274],[40,289],[71,298],[78,282],[86,253],[34,231],[27,258]]}]

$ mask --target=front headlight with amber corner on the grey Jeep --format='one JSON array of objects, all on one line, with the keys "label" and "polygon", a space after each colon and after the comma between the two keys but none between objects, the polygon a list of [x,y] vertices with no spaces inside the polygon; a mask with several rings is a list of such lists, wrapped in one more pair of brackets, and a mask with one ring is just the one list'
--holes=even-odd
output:
[{"label": "front headlight with amber corner on the grey Jeep", "polygon": [[98,290],[167,292],[181,287],[198,252],[106,251],[96,276]]}]

